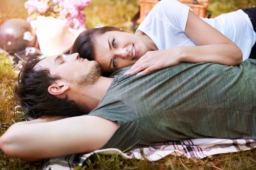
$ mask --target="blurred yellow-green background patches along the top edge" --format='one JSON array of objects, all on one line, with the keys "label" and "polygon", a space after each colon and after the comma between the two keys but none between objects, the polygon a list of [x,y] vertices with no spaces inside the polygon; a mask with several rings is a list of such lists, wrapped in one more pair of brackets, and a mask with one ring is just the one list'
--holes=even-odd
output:
[{"label": "blurred yellow-green background patches along the top edge", "polygon": [[[26,18],[23,6],[27,0],[1,0],[0,24],[10,18]],[[216,17],[221,13],[256,6],[256,0],[210,0],[207,14]],[[139,11],[139,0],[92,0],[85,8],[86,28],[118,26],[129,29],[130,21]]]}]

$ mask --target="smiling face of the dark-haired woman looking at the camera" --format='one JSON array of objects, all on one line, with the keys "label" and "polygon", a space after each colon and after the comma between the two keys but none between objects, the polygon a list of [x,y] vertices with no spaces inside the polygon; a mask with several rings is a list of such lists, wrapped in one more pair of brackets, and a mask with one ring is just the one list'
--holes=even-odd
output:
[{"label": "smiling face of the dark-haired woman looking at the camera", "polygon": [[95,60],[104,73],[130,66],[147,52],[145,44],[132,33],[108,31],[95,40]]}]

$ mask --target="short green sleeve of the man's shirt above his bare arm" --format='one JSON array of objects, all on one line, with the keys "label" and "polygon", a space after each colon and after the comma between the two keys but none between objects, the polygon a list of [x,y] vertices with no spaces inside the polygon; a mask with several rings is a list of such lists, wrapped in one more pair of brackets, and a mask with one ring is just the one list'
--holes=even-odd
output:
[{"label": "short green sleeve of the man's shirt above his bare arm", "polygon": [[118,148],[126,150],[137,141],[137,114],[130,106],[118,99],[107,99],[105,101],[107,102],[101,103],[89,115],[117,121],[119,128],[101,149]]}]

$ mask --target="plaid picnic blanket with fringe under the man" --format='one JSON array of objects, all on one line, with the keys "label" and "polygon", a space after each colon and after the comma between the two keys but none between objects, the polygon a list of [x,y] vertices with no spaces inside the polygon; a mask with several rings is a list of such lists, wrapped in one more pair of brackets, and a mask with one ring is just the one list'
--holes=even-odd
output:
[{"label": "plaid picnic blanket with fringe under the man", "polygon": [[64,157],[49,159],[42,170],[74,170],[77,166],[82,166],[83,162],[91,155],[116,154],[126,159],[148,159],[156,161],[166,155],[185,156],[187,158],[204,158],[220,153],[238,152],[256,148],[256,140],[251,139],[184,139],[182,141],[168,141],[159,143],[148,148],[138,148],[128,152],[121,152],[116,148],[95,150],[87,154],[73,154]]}]

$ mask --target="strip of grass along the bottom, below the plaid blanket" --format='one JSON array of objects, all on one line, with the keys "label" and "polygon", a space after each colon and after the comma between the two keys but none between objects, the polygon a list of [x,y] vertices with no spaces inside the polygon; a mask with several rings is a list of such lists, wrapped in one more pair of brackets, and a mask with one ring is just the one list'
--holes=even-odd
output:
[{"label": "strip of grass along the bottom, below the plaid blanket", "polygon": [[219,154],[205,159],[167,156],[158,161],[123,159],[118,155],[93,155],[83,170],[255,170],[256,150]]}]

